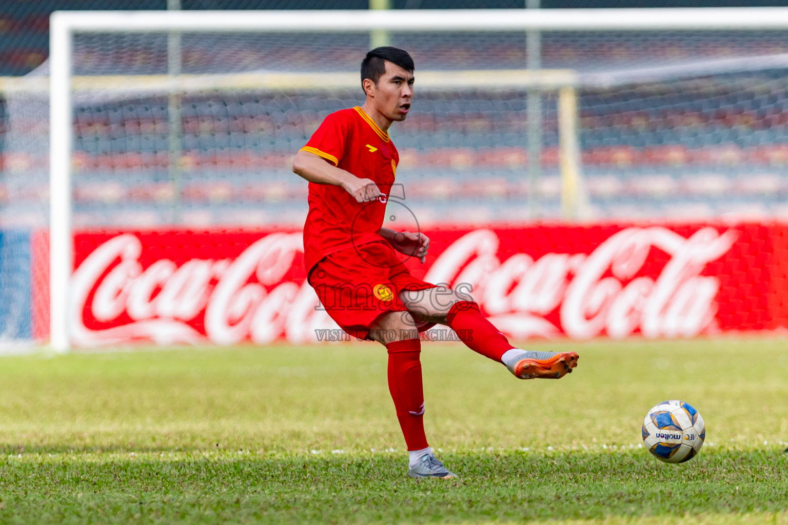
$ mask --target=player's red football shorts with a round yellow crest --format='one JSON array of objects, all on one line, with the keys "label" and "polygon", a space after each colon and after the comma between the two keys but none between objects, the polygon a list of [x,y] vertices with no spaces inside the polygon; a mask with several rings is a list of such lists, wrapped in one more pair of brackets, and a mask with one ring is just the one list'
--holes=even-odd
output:
[{"label": "player's red football shorts with a round yellow crest", "polygon": [[[402,290],[427,290],[435,285],[416,279],[387,242],[367,242],[331,253],[314,265],[309,283],[329,316],[348,334],[372,340],[370,325],[385,312],[405,312]],[[429,330],[417,323],[409,330]],[[414,332],[415,334],[415,332]]]}]

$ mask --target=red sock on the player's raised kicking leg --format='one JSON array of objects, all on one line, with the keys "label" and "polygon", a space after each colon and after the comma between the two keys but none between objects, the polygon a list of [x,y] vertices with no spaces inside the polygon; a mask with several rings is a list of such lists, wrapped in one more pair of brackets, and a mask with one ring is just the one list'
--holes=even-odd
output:
[{"label": "red sock on the player's raised kicking leg", "polygon": [[446,320],[448,327],[457,332],[468,348],[494,361],[500,363],[504,352],[514,348],[506,336],[481,315],[479,305],[474,301],[455,302],[448,310]]}]

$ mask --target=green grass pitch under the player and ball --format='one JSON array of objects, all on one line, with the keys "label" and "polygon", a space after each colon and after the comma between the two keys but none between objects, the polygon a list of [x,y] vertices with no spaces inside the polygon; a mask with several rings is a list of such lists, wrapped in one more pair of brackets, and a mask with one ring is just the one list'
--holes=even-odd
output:
[{"label": "green grass pitch under the player and ball", "polygon": [[[0,523],[788,523],[788,342],[539,345],[519,381],[422,351],[430,444],[461,477],[405,476],[381,346],[135,350],[0,360]],[[639,447],[680,398],[707,439]]]}]

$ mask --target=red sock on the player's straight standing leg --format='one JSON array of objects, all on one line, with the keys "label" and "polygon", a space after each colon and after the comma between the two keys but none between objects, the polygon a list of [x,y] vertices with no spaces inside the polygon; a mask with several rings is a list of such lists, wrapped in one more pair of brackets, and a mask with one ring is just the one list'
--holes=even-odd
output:
[{"label": "red sock on the player's straight standing leg", "polygon": [[422,362],[418,355],[422,343],[418,339],[394,341],[388,350],[388,390],[392,393],[396,417],[405,436],[408,450],[426,449],[424,434],[424,390]]}]

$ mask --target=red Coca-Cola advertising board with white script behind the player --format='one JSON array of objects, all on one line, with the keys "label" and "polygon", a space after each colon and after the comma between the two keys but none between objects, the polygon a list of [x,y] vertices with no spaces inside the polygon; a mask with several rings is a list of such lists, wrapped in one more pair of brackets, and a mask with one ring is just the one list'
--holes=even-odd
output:
[{"label": "red Coca-Cola advertising board with white script behind the player", "polygon": [[[788,227],[595,224],[434,227],[411,273],[470,290],[504,334],[680,338],[788,321]],[[33,241],[45,246],[45,235]],[[318,342],[337,326],[306,283],[299,229],[77,231],[77,346]],[[35,250],[39,253],[43,249]],[[35,258],[35,257],[34,257]],[[404,257],[403,257],[404,258]],[[32,282],[46,283],[46,264]],[[34,290],[46,337],[46,290]]]}]

